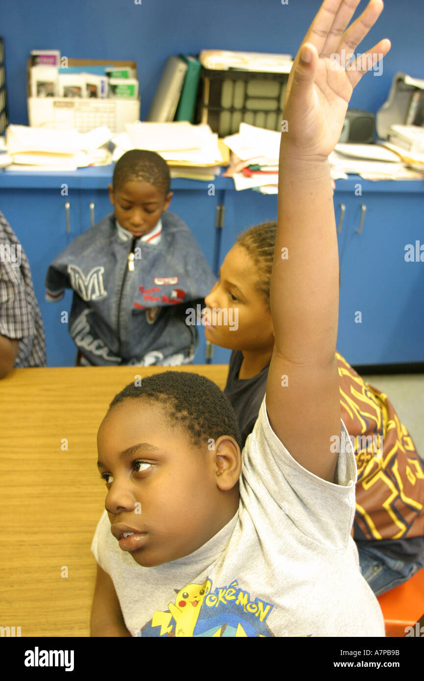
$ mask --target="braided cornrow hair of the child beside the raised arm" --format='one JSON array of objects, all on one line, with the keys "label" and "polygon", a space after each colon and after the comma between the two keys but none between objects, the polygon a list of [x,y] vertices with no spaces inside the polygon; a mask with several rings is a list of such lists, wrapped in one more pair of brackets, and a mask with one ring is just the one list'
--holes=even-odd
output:
[{"label": "braided cornrow hair of the child beside the raised arm", "polygon": [[270,309],[270,283],[274,248],[276,244],[277,223],[263,222],[261,225],[250,227],[238,236],[235,242],[242,246],[257,266],[258,276],[256,288],[263,294]]}]

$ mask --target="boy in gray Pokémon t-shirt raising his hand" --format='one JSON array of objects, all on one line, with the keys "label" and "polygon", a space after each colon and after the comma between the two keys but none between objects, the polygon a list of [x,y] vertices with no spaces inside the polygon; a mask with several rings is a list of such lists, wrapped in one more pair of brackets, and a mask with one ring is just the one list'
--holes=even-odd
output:
[{"label": "boy in gray Pok\u00e9mon t-shirt raising his hand", "polygon": [[[357,473],[335,357],[327,157],[362,74],[333,70],[329,57],[356,46],[382,10],[371,0],[343,33],[358,4],[325,0],[289,77],[271,291],[276,342],[242,456],[225,396],[195,374],[128,385],[99,428],[108,494],[92,545],[94,636],[385,634],[350,537]],[[388,50],[382,41],[372,53]],[[333,454],[340,432],[348,451]]]}]

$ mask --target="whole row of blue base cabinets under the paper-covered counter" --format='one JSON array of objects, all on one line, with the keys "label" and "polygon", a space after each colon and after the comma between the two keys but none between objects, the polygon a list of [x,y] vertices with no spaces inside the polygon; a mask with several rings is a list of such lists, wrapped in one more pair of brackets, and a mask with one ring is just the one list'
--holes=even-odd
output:
[{"label": "whole row of blue base cabinets under the paper-covered counter", "polygon": [[[60,177],[0,173],[0,210],[29,258],[48,366],[73,366],[76,347],[61,321],[61,313],[70,310],[71,291],[59,304],[46,302],[46,269],[71,240],[112,210],[111,178],[110,166]],[[231,178],[217,177],[213,184],[211,192],[207,182],[172,180],[169,210],[189,225],[218,274],[240,232],[276,220],[277,196],[235,191]],[[424,264],[405,259],[408,244],[424,244],[424,182],[372,183],[351,176],[337,181],[334,208],[340,255],[338,350],[356,365],[424,362]],[[195,364],[227,364],[231,351],[225,348],[213,347],[212,359],[206,359],[212,348],[206,346],[203,327],[198,330]]]}]

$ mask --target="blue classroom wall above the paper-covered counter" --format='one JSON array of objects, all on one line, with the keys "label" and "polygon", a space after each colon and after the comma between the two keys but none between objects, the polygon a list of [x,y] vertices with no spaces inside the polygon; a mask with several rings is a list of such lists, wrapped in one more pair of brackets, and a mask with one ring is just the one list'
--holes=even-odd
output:
[{"label": "blue classroom wall above the paper-covered counter", "polygon": [[[140,4],[135,4],[135,1]],[[9,116],[28,124],[27,60],[31,49],[59,49],[66,57],[137,62],[144,120],[169,54],[201,49],[296,54],[320,0],[1,0]],[[363,0],[354,18],[359,16]],[[350,107],[376,112],[397,71],[424,78],[423,0],[386,0],[363,46],[383,37],[392,48],[382,74],[361,80]]]}]

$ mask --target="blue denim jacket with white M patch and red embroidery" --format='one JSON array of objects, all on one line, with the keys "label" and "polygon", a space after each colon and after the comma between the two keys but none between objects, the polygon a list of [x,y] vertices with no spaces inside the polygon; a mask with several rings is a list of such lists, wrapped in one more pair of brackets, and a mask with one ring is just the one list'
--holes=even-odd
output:
[{"label": "blue denim jacket with white M patch and red embroidery", "polygon": [[90,364],[169,365],[193,360],[199,338],[186,324],[216,278],[189,227],[161,217],[157,244],[116,225],[114,213],[78,236],[48,268],[46,300],[74,290],[69,332]]}]

